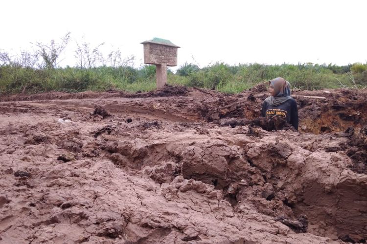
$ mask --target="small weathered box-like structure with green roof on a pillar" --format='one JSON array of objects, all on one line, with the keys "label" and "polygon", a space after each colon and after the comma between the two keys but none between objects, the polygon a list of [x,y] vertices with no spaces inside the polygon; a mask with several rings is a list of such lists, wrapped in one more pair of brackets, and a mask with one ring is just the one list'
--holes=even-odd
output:
[{"label": "small weathered box-like structure with green roof on a pillar", "polygon": [[161,89],[167,83],[167,66],[177,66],[177,49],[171,41],[153,38],[143,41],[144,63],[157,66],[157,89]]}]

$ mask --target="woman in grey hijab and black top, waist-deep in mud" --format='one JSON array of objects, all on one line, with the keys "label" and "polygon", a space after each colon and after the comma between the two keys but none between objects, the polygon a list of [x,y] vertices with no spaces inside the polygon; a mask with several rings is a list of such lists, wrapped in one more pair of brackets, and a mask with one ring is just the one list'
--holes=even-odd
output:
[{"label": "woman in grey hijab and black top, waist-deep in mud", "polygon": [[270,97],[262,105],[261,116],[272,118],[283,117],[289,124],[298,130],[297,102],[291,97],[290,83],[283,78],[269,81]]}]

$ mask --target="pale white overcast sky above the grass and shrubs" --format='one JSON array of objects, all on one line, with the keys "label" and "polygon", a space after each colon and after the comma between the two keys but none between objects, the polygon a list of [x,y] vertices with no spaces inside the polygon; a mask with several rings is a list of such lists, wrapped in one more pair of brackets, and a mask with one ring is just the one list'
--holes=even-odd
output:
[{"label": "pale white overcast sky above the grass and shrubs", "polygon": [[71,32],[63,54],[70,66],[72,42],[83,36],[134,55],[137,66],[140,42],[153,37],[181,46],[179,66],[366,63],[366,10],[366,0],[2,0],[0,49],[19,52]]}]

